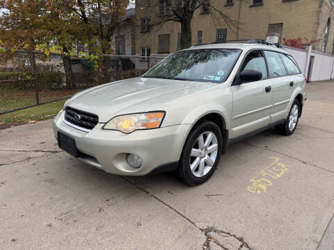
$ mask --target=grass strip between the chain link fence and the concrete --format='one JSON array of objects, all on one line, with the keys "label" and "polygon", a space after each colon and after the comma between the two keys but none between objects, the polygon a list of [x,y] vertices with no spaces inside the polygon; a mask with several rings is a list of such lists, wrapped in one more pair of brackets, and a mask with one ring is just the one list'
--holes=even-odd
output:
[{"label": "grass strip between the chain link fence and the concrete", "polygon": [[0,115],[0,128],[52,119],[63,108],[65,101],[54,101],[53,103]]}]

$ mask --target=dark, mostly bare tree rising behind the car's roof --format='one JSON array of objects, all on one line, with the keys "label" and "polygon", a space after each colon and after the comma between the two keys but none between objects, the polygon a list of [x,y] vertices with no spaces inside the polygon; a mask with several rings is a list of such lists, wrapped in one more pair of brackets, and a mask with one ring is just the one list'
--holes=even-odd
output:
[{"label": "dark, mostly bare tree rising behind the car's roof", "polygon": [[154,4],[141,0],[136,3],[140,9],[150,13],[157,13],[150,25],[159,28],[166,22],[178,22],[181,24],[181,49],[191,47],[191,20],[193,14],[199,8],[209,12],[216,22],[223,22],[229,27],[237,28],[235,22],[225,15],[209,0],[154,0]]}]

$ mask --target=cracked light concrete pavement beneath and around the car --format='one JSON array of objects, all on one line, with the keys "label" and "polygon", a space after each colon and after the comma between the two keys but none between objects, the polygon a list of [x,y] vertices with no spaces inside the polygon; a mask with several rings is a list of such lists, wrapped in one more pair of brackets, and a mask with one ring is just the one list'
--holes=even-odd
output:
[{"label": "cracked light concrete pavement beneath and around the car", "polygon": [[193,188],[89,167],[51,121],[0,131],[0,249],[333,250],[334,83],[307,92],[294,135],[232,145]]}]

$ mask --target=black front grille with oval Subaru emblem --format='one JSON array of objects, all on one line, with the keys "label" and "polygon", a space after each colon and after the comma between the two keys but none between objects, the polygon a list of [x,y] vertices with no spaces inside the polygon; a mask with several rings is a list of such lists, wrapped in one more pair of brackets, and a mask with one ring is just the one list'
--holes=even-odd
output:
[{"label": "black front grille with oval Subaru emblem", "polygon": [[79,128],[91,130],[99,122],[99,117],[97,117],[97,115],[67,107],[65,108],[65,121],[74,124]]}]

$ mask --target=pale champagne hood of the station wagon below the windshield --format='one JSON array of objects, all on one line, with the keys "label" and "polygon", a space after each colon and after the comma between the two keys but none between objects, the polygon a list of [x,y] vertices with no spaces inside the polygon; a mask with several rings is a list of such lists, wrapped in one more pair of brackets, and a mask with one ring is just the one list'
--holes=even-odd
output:
[{"label": "pale champagne hood of the station wagon below the windshield", "polygon": [[[184,90],[193,89],[200,85],[204,87],[212,85],[212,83],[159,78],[130,78],[79,92],[68,101],[67,106],[96,114],[99,117],[99,122],[108,122],[109,119],[121,113],[133,113],[136,110],[141,110],[141,103],[147,103],[150,99],[154,99],[152,106],[143,105],[143,110],[140,112],[160,110],[159,108],[163,108],[163,104],[170,99],[193,92]],[[164,98],[166,95],[168,98]]]}]

